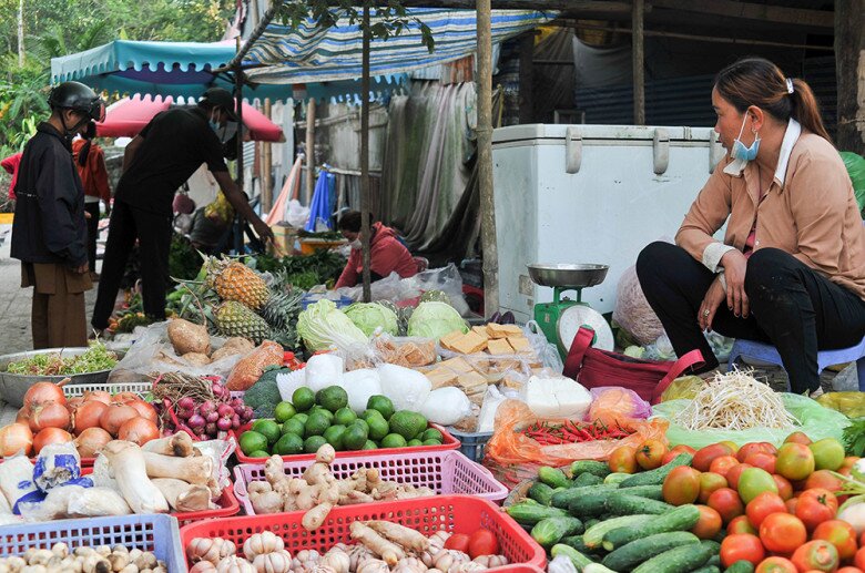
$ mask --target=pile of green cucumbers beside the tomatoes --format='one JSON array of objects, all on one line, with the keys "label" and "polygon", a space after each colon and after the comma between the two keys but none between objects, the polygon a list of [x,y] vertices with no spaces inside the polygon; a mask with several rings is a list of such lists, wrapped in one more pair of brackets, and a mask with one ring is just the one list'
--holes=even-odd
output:
[{"label": "pile of green cucumbers beside the tomatoes", "polygon": [[701,540],[690,532],[700,510],[663,501],[664,478],[691,459],[681,453],[635,474],[612,473],[599,461],[576,461],[567,473],[540,468],[528,498],[507,512],[578,572],[721,573],[720,535]]}]

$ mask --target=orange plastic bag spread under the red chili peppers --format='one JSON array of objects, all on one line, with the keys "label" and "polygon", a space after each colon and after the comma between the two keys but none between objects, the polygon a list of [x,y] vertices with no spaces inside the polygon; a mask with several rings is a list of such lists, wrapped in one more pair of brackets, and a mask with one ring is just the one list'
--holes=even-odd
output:
[{"label": "orange plastic bag spread under the red chili peppers", "polygon": [[[634,431],[621,440],[597,440],[561,446],[541,446],[519,430],[538,421],[525,402],[507,400],[496,412],[496,432],[486,448],[486,456],[501,465],[537,464],[564,465],[573,460],[606,460],[620,446],[633,446],[649,439],[664,440],[665,420],[629,420],[622,427]],[[562,422],[564,420],[546,420]],[[486,462],[485,462],[486,464]]]}]

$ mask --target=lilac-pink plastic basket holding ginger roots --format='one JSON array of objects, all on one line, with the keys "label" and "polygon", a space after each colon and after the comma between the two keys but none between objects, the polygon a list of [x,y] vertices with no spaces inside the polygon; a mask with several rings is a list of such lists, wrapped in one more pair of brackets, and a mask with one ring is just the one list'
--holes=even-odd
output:
[{"label": "lilac-pink plastic basket holding ginger roots", "polygon": [[[283,468],[289,478],[299,478],[313,463],[314,460],[287,461]],[[338,479],[350,478],[359,468],[375,468],[383,480],[426,485],[438,494],[465,493],[489,501],[508,497],[508,489],[488,469],[454,450],[337,458],[330,464]],[[246,485],[263,480],[264,463],[241,463],[234,468],[234,494],[247,515],[255,515],[255,510]]]}]

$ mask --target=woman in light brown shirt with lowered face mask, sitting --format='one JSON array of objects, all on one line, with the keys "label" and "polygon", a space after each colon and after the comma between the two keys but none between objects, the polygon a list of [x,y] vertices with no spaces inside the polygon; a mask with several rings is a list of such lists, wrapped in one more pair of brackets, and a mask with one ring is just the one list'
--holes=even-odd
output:
[{"label": "woman in light brown shirt with lowered face mask, sitting", "polygon": [[853,186],[811,88],[772,62],[722,70],[712,106],[727,156],[676,244],[640,253],[640,284],[676,354],[702,351],[700,371],[718,366],[702,334],[714,330],[775,346],[792,391],[818,391],[817,350],[865,336],[865,228]]}]

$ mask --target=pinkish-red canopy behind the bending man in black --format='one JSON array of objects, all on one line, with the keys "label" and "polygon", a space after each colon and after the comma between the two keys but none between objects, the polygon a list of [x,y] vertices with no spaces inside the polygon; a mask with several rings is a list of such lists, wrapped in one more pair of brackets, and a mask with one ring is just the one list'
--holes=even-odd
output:
[{"label": "pinkish-red canopy behind the bending man in black", "polygon": [[[154,115],[173,104],[171,98],[124,98],[109,106],[105,121],[96,123],[100,137],[134,137]],[[285,142],[283,130],[252,105],[243,104],[244,139],[252,141]]]}]

